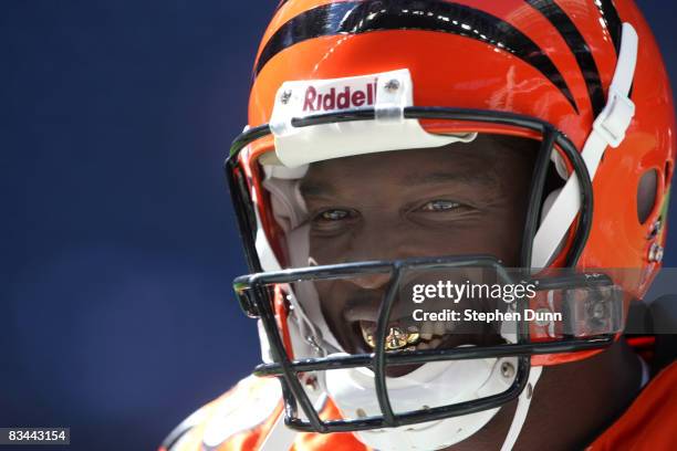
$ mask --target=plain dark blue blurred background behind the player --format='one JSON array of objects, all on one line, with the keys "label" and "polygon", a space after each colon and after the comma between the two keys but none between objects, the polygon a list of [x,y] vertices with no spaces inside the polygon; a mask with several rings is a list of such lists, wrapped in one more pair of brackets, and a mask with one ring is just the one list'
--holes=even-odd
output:
[{"label": "plain dark blue blurred background behind the player", "polygon": [[[252,4],[0,2],[0,426],[149,450],[258,363],[221,172]],[[640,7],[675,78],[677,4]]]}]

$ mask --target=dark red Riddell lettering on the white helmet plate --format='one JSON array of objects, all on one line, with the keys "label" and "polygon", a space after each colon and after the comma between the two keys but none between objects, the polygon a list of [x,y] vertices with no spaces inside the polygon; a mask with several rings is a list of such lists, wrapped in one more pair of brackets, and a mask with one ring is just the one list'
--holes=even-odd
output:
[{"label": "dark red Riddell lettering on the white helmet plate", "polygon": [[343,90],[331,87],[327,92],[317,92],[315,86],[308,86],[303,96],[304,112],[331,112],[360,106],[374,105],[376,82],[367,83],[364,88],[345,86]]}]

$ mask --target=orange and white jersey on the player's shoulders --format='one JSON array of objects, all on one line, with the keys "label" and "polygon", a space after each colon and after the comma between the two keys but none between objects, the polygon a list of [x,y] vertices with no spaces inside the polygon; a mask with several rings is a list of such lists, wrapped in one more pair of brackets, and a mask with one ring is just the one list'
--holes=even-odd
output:
[{"label": "orange and white jersey on the player's shoulders", "polygon": [[[282,411],[280,384],[250,376],[191,415],[160,451],[252,451]],[[324,415],[335,417],[327,402]],[[677,363],[665,368],[586,451],[677,449]],[[352,433],[298,433],[292,451],[368,451]]]}]

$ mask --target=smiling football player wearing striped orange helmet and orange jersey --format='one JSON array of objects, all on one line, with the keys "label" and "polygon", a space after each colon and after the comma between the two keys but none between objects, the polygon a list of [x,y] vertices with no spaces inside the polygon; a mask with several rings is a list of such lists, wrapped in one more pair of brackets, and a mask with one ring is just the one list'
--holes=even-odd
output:
[{"label": "smiling football player wearing striped orange helmet and orange jersey", "polygon": [[226,162],[263,363],[163,449],[670,449],[623,328],[674,127],[628,0],[281,2]]}]

